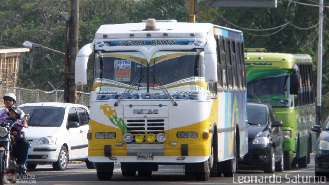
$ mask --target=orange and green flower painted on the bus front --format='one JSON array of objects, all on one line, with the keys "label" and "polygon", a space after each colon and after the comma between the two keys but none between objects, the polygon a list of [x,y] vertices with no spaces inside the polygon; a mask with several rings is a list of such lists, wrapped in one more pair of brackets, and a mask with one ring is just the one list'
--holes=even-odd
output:
[{"label": "orange and green flower painted on the bus front", "polygon": [[100,106],[100,109],[103,110],[104,115],[109,118],[109,121],[112,124],[120,128],[122,135],[127,132],[127,125],[124,123],[122,118],[117,117],[117,112],[114,108],[108,104],[104,104]]}]

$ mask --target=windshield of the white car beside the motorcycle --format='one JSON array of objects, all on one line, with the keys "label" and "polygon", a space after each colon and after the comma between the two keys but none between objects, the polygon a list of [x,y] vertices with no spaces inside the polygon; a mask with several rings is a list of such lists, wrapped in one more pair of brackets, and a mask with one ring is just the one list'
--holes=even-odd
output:
[{"label": "windshield of the white car beside the motorcycle", "polygon": [[65,108],[51,106],[23,106],[25,114],[30,115],[29,126],[60,127],[63,123]]}]

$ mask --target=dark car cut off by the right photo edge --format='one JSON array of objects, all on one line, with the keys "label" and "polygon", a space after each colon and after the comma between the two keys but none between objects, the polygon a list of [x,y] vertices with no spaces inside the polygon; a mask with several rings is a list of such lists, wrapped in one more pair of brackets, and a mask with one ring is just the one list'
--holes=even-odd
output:
[{"label": "dark car cut off by the right photo edge", "polygon": [[312,127],[312,131],[320,133],[314,150],[315,175],[329,177],[329,117],[324,125]]}]

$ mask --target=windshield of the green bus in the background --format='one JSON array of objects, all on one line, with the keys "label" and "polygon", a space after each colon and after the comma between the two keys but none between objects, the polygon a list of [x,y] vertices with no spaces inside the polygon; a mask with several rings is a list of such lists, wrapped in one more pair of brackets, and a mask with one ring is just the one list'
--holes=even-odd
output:
[{"label": "windshield of the green bus in the background", "polygon": [[287,71],[254,71],[247,81],[247,101],[270,104],[273,107],[291,107],[290,78]]}]

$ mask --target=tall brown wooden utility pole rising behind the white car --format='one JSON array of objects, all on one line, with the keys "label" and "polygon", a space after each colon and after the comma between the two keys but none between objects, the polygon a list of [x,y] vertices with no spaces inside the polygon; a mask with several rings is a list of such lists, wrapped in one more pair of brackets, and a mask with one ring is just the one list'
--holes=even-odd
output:
[{"label": "tall brown wooden utility pole rising behind the white car", "polygon": [[70,21],[66,36],[66,58],[64,75],[64,102],[76,103],[77,89],[75,84],[75,61],[78,53],[79,33],[79,0],[71,0]]}]

